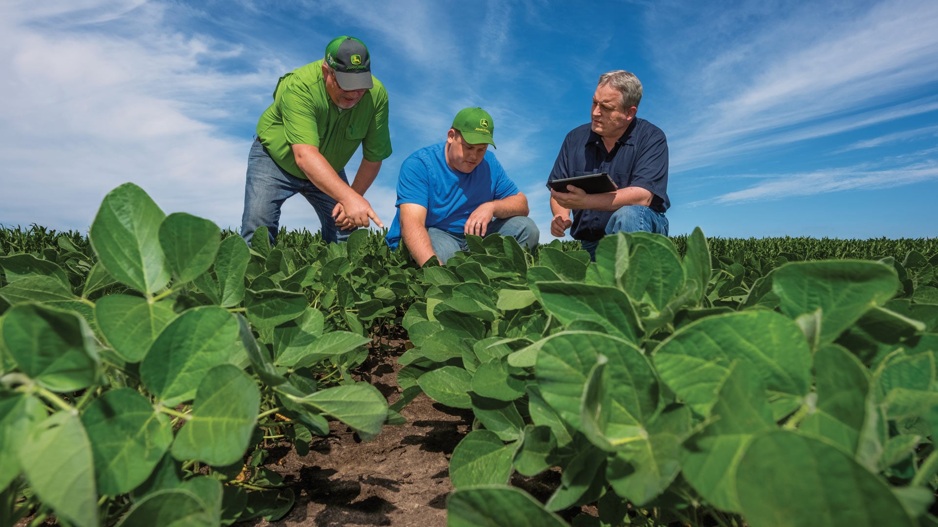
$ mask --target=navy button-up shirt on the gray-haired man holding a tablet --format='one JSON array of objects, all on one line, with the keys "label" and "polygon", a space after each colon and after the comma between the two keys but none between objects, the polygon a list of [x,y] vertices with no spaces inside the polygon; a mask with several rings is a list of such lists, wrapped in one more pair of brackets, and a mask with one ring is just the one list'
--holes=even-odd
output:
[{"label": "navy button-up shirt on the gray-haired man holding a tablet", "polygon": [[[668,140],[664,132],[644,119],[635,118],[626,133],[606,150],[602,137],[590,124],[573,128],[560,147],[548,181],[609,173],[619,188],[641,187],[652,194],[651,209],[663,213],[668,200]],[[596,241],[605,235],[611,211],[574,210],[570,235],[577,240]]]}]

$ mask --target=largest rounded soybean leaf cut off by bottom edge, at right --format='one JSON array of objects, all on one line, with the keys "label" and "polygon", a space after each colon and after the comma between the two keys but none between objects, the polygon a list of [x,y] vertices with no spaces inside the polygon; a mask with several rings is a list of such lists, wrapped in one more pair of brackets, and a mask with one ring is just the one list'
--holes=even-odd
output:
[{"label": "largest rounded soybean leaf cut off by bottom edge, at right", "polygon": [[791,431],[749,445],[736,487],[743,517],[754,527],[916,524],[877,475],[840,448]]}]

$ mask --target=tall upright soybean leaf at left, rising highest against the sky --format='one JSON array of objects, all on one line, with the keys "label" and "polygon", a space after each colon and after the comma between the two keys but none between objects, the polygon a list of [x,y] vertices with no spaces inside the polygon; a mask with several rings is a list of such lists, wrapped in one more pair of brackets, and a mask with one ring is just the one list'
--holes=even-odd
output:
[{"label": "tall upright soybean leaf at left, rising highest against the sky", "polygon": [[98,260],[117,281],[153,294],[170,280],[159,247],[159,225],[166,215],[143,188],[125,183],[101,203],[88,238]]}]

